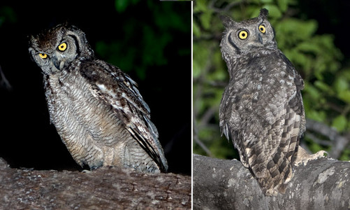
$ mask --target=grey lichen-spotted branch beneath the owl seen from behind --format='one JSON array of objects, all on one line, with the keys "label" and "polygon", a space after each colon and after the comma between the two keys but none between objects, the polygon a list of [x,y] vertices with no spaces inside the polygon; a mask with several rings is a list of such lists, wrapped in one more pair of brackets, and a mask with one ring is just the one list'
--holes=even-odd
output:
[{"label": "grey lichen-spotted branch beneath the owl seen from behind", "polygon": [[238,160],[194,155],[194,209],[347,209],[350,162],[320,158],[294,167],[286,194],[265,197]]}]

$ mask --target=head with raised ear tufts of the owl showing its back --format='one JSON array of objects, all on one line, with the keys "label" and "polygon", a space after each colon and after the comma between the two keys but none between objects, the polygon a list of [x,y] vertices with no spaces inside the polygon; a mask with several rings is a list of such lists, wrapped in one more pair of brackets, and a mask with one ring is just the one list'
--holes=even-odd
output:
[{"label": "head with raised ear tufts of the owl showing its back", "polygon": [[267,9],[261,9],[258,17],[242,22],[235,22],[227,16],[220,18],[225,26],[220,43],[224,59],[240,57],[258,48],[277,48],[275,31],[268,22]]}]

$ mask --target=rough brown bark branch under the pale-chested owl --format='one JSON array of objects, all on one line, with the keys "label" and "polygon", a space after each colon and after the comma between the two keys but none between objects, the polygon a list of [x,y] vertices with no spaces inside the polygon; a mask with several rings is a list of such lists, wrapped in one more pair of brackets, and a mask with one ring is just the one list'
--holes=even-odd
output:
[{"label": "rough brown bark branch under the pale-chested owl", "polygon": [[0,158],[0,209],[191,209],[191,176],[129,169],[12,169]]}]

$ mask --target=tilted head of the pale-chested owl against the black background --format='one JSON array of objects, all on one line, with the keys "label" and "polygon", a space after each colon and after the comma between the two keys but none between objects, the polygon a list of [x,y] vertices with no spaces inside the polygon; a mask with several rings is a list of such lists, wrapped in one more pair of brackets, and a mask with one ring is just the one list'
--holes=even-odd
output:
[{"label": "tilted head of the pale-chested owl against the black background", "polygon": [[45,74],[62,71],[75,59],[94,57],[84,32],[74,26],[57,25],[31,36],[29,53]]}]

